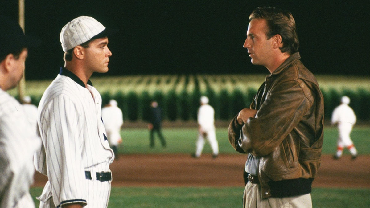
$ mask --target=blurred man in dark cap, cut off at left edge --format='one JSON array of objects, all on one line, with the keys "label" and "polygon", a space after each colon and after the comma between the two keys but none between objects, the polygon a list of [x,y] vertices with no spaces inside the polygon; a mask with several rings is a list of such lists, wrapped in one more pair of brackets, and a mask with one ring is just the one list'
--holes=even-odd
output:
[{"label": "blurred man in dark cap, cut off at left edge", "polygon": [[41,141],[21,104],[6,93],[23,77],[27,47],[34,42],[7,17],[0,16],[0,28],[0,207],[34,208],[29,193],[35,172],[32,158]]}]

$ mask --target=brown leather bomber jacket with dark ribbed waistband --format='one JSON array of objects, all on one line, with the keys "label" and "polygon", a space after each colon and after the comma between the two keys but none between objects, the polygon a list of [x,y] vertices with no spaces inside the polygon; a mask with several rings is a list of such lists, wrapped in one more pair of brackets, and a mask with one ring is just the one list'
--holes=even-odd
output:
[{"label": "brown leather bomber jacket with dark ribbed waistband", "polygon": [[257,110],[255,118],[239,125],[235,117],[229,125],[235,150],[260,157],[263,198],[311,192],[320,166],[323,95],[299,59],[298,52],[292,54],[266,77],[250,104]]}]

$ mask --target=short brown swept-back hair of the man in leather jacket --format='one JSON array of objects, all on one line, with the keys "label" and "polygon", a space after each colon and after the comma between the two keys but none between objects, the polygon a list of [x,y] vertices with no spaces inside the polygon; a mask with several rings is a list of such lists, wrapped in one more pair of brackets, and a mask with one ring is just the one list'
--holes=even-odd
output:
[{"label": "short brown swept-back hair of the man in leather jacket", "polygon": [[299,40],[292,13],[275,7],[257,7],[249,16],[249,21],[253,19],[266,20],[268,39],[276,34],[281,36],[283,47],[280,50],[282,53],[287,52],[291,55],[298,51]]}]

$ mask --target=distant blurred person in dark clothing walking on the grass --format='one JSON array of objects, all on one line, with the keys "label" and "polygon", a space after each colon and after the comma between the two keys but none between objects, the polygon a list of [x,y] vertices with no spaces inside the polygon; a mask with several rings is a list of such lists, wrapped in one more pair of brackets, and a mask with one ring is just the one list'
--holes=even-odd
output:
[{"label": "distant blurred person in dark clothing walking on the grass", "polygon": [[161,140],[162,147],[166,147],[166,141],[161,132],[162,111],[156,101],[152,101],[150,108],[150,118],[148,128],[150,130],[150,147],[154,147],[154,131],[157,131],[158,137]]}]

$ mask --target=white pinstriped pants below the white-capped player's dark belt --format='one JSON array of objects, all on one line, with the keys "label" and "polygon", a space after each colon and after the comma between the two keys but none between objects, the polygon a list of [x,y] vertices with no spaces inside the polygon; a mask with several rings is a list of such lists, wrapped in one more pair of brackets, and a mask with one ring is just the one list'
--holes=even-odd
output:
[{"label": "white pinstriped pants below the white-capped player's dark belt", "polygon": [[[88,179],[86,179],[88,180]],[[111,193],[111,181],[88,180],[87,205],[84,208],[106,208]],[[46,202],[40,201],[40,208],[55,208],[53,197]]]}]

